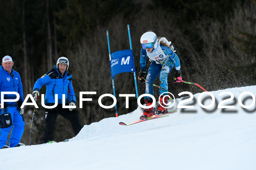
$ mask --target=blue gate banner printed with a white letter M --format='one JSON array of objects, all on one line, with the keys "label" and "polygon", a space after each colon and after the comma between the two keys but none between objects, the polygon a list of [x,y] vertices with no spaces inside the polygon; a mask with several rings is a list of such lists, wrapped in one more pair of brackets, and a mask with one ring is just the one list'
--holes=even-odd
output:
[{"label": "blue gate banner printed with a white letter M", "polygon": [[112,79],[121,72],[135,72],[132,50],[116,51],[110,60]]}]

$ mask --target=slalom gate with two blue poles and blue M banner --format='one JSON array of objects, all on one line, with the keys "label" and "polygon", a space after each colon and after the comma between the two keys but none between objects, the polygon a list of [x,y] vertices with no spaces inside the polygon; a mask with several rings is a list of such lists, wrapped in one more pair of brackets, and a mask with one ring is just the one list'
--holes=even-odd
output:
[{"label": "slalom gate with two blue poles and blue M banner", "polygon": [[[109,46],[109,32],[107,31],[108,46],[109,46],[109,61],[110,61],[110,68],[111,68],[113,92],[114,92],[114,96],[116,97],[115,86],[114,86],[114,76],[119,73],[122,73],[122,72],[133,72],[136,95],[137,95],[137,99],[138,99],[138,88],[137,88],[136,74],[135,74],[135,67],[134,67],[134,60],[133,60],[130,27],[129,27],[129,25],[127,25],[127,26],[128,26],[131,50],[116,51],[111,54],[110,46]],[[115,108],[116,108],[116,117],[117,117],[118,116],[117,106],[115,106]]]}]

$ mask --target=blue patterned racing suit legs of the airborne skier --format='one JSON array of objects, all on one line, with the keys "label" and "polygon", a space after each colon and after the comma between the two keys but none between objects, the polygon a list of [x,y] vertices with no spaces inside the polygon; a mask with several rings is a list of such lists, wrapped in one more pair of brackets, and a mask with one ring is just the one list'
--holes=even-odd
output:
[{"label": "blue patterned racing suit legs of the airborne skier", "polygon": [[[146,94],[151,94],[154,96],[153,84],[157,76],[160,74],[160,89],[159,95],[162,93],[168,92],[168,82],[167,77],[172,71],[174,66],[173,61],[166,62],[164,64],[157,64],[151,62],[150,67],[148,68],[148,74],[146,77]],[[166,94],[163,94],[166,95]],[[146,100],[152,100],[151,97],[145,96]]]}]

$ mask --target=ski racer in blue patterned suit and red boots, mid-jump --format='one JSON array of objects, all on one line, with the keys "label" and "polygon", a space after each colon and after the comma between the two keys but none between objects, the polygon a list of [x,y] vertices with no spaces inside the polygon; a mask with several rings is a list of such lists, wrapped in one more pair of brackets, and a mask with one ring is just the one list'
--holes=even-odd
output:
[{"label": "ski racer in blue patterned suit and red boots, mid-jump", "polygon": [[[146,32],[140,38],[142,49],[140,50],[140,72],[139,82],[146,83],[146,94],[154,96],[153,84],[157,76],[160,74],[160,100],[156,114],[166,113],[167,99],[168,97],[168,83],[167,77],[172,71],[174,65],[176,68],[175,76],[173,77],[174,83],[179,83],[182,80],[180,71],[180,59],[175,53],[173,46],[170,46],[171,42],[167,41],[165,37],[157,38],[154,32]],[[146,60],[147,57],[152,61],[148,69],[146,76]],[[146,79],[145,79],[146,78]],[[165,96],[165,97],[164,97]],[[150,106],[153,103],[152,98],[146,96],[144,98],[146,106]],[[153,107],[146,108],[143,111],[140,119],[146,119],[148,116],[154,115]]]}]

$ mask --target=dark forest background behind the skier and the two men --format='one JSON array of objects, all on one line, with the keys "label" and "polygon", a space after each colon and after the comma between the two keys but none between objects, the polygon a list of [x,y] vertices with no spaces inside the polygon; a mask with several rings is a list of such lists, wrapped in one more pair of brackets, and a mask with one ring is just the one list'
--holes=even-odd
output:
[{"label": "dark forest background behind the skier and the two men", "polygon": [[[24,96],[31,94],[35,81],[56,65],[60,56],[69,59],[68,72],[80,120],[83,125],[114,117],[115,108],[99,106],[102,94],[113,94],[106,30],[111,53],[130,49],[127,24],[136,69],[140,71],[140,36],[153,31],[172,41],[180,57],[182,78],[208,91],[256,84],[256,1],[255,0],[0,0],[0,52],[10,55],[14,70],[20,73]],[[150,62],[147,60],[148,68]],[[174,84],[169,75],[169,92],[202,92],[197,86]],[[114,77],[118,114],[137,108],[132,73]],[[138,83],[139,95],[145,85]],[[159,85],[159,80],[155,81]],[[96,91],[79,108],[79,92]],[[45,94],[45,86],[40,94]],[[158,98],[158,89],[155,88]],[[102,103],[109,106],[111,98]],[[44,108],[41,96],[35,110],[32,144],[42,143]],[[143,104],[143,101],[142,101]],[[25,132],[21,142],[29,145],[33,107],[25,106]],[[139,117],[140,115],[138,115]],[[68,120],[58,116],[54,141],[74,136]]]}]

